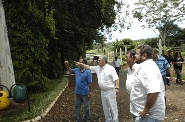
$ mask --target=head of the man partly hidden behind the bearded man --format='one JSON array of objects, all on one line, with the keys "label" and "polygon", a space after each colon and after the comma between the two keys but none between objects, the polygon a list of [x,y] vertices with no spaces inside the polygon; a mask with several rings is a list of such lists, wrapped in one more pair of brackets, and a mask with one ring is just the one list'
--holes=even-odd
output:
[{"label": "head of the man partly hidden behind the bearded man", "polygon": [[135,50],[130,50],[130,51],[127,51],[126,53],[126,61],[130,67],[132,67],[135,63],[135,54],[136,54]]}]

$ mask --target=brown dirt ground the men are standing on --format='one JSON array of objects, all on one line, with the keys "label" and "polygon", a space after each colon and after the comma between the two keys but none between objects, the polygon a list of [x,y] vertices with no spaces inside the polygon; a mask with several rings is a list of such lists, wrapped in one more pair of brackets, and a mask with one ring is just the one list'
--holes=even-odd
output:
[{"label": "brown dirt ground the men are standing on", "polygon": [[[117,95],[119,120],[120,122],[132,122],[132,115],[129,112],[129,96],[125,89],[126,80],[126,66],[122,67],[120,72],[120,93]],[[43,122],[75,122],[75,109],[74,109],[74,75],[69,77],[69,86],[64,93],[59,97],[53,108],[42,120]],[[96,75],[93,75],[93,90],[91,102],[91,121],[92,122],[105,122],[100,88],[97,83]],[[167,86],[167,110],[166,117],[163,122],[185,122],[185,84],[179,85],[171,82]],[[82,106],[82,108],[84,108]],[[82,116],[84,118],[84,109],[82,109]]]}]

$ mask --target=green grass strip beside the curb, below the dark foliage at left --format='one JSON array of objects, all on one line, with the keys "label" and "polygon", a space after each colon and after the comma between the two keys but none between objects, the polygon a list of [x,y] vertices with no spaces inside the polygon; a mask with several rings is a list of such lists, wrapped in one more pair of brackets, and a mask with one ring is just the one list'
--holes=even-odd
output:
[{"label": "green grass strip beside the curb, below the dark foliage at left", "polygon": [[66,86],[67,82],[67,77],[50,80],[46,83],[47,92],[29,95],[29,99],[34,100],[33,104],[30,105],[30,112],[28,112],[28,107],[26,107],[17,112],[1,114],[0,122],[20,122],[40,116]]}]

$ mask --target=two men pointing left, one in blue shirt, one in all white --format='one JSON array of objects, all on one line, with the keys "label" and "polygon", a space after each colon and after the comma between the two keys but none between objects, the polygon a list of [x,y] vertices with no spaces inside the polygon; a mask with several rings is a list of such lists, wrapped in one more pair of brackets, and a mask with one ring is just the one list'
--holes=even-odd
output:
[{"label": "two men pointing left, one in blue shirt, one in all white", "polygon": [[[86,63],[86,59],[80,59],[79,62],[76,62],[78,68],[71,69],[69,67],[69,62],[64,62],[68,71],[75,74],[76,79],[76,102],[75,102],[75,112],[76,112],[76,121],[82,122],[81,113],[81,104],[85,104],[85,120],[89,122],[90,117],[90,104],[89,99],[91,97],[91,83],[92,75],[91,73],[96,73],[98,84],[101,89],[101,100],[104,111],[104,116],[106,122],[118,122],[118,109],[116,95],[119,93],[119,77],[116,73],[116,70],[113,66],[108,64],[107,56],[100,56],[98,59],[97,66],[89,66]],[[89,79],[89,80],[87,80]],[[78,90],[77,90],[78,89]],[[78,92],[77,91],[83,91]]]}]

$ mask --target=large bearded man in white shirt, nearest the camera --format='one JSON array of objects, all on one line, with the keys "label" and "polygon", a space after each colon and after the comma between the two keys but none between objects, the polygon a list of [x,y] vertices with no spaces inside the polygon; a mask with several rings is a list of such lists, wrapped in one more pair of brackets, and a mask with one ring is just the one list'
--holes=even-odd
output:
[{"label": "large bearded man in white shirt, nearest the camera", "polygon": [[140,64],[130,94],[134,122],[161,122],[165,117],[165,88],[161,72],[152,59],[152,48],[139,46],[135,55]]}]

